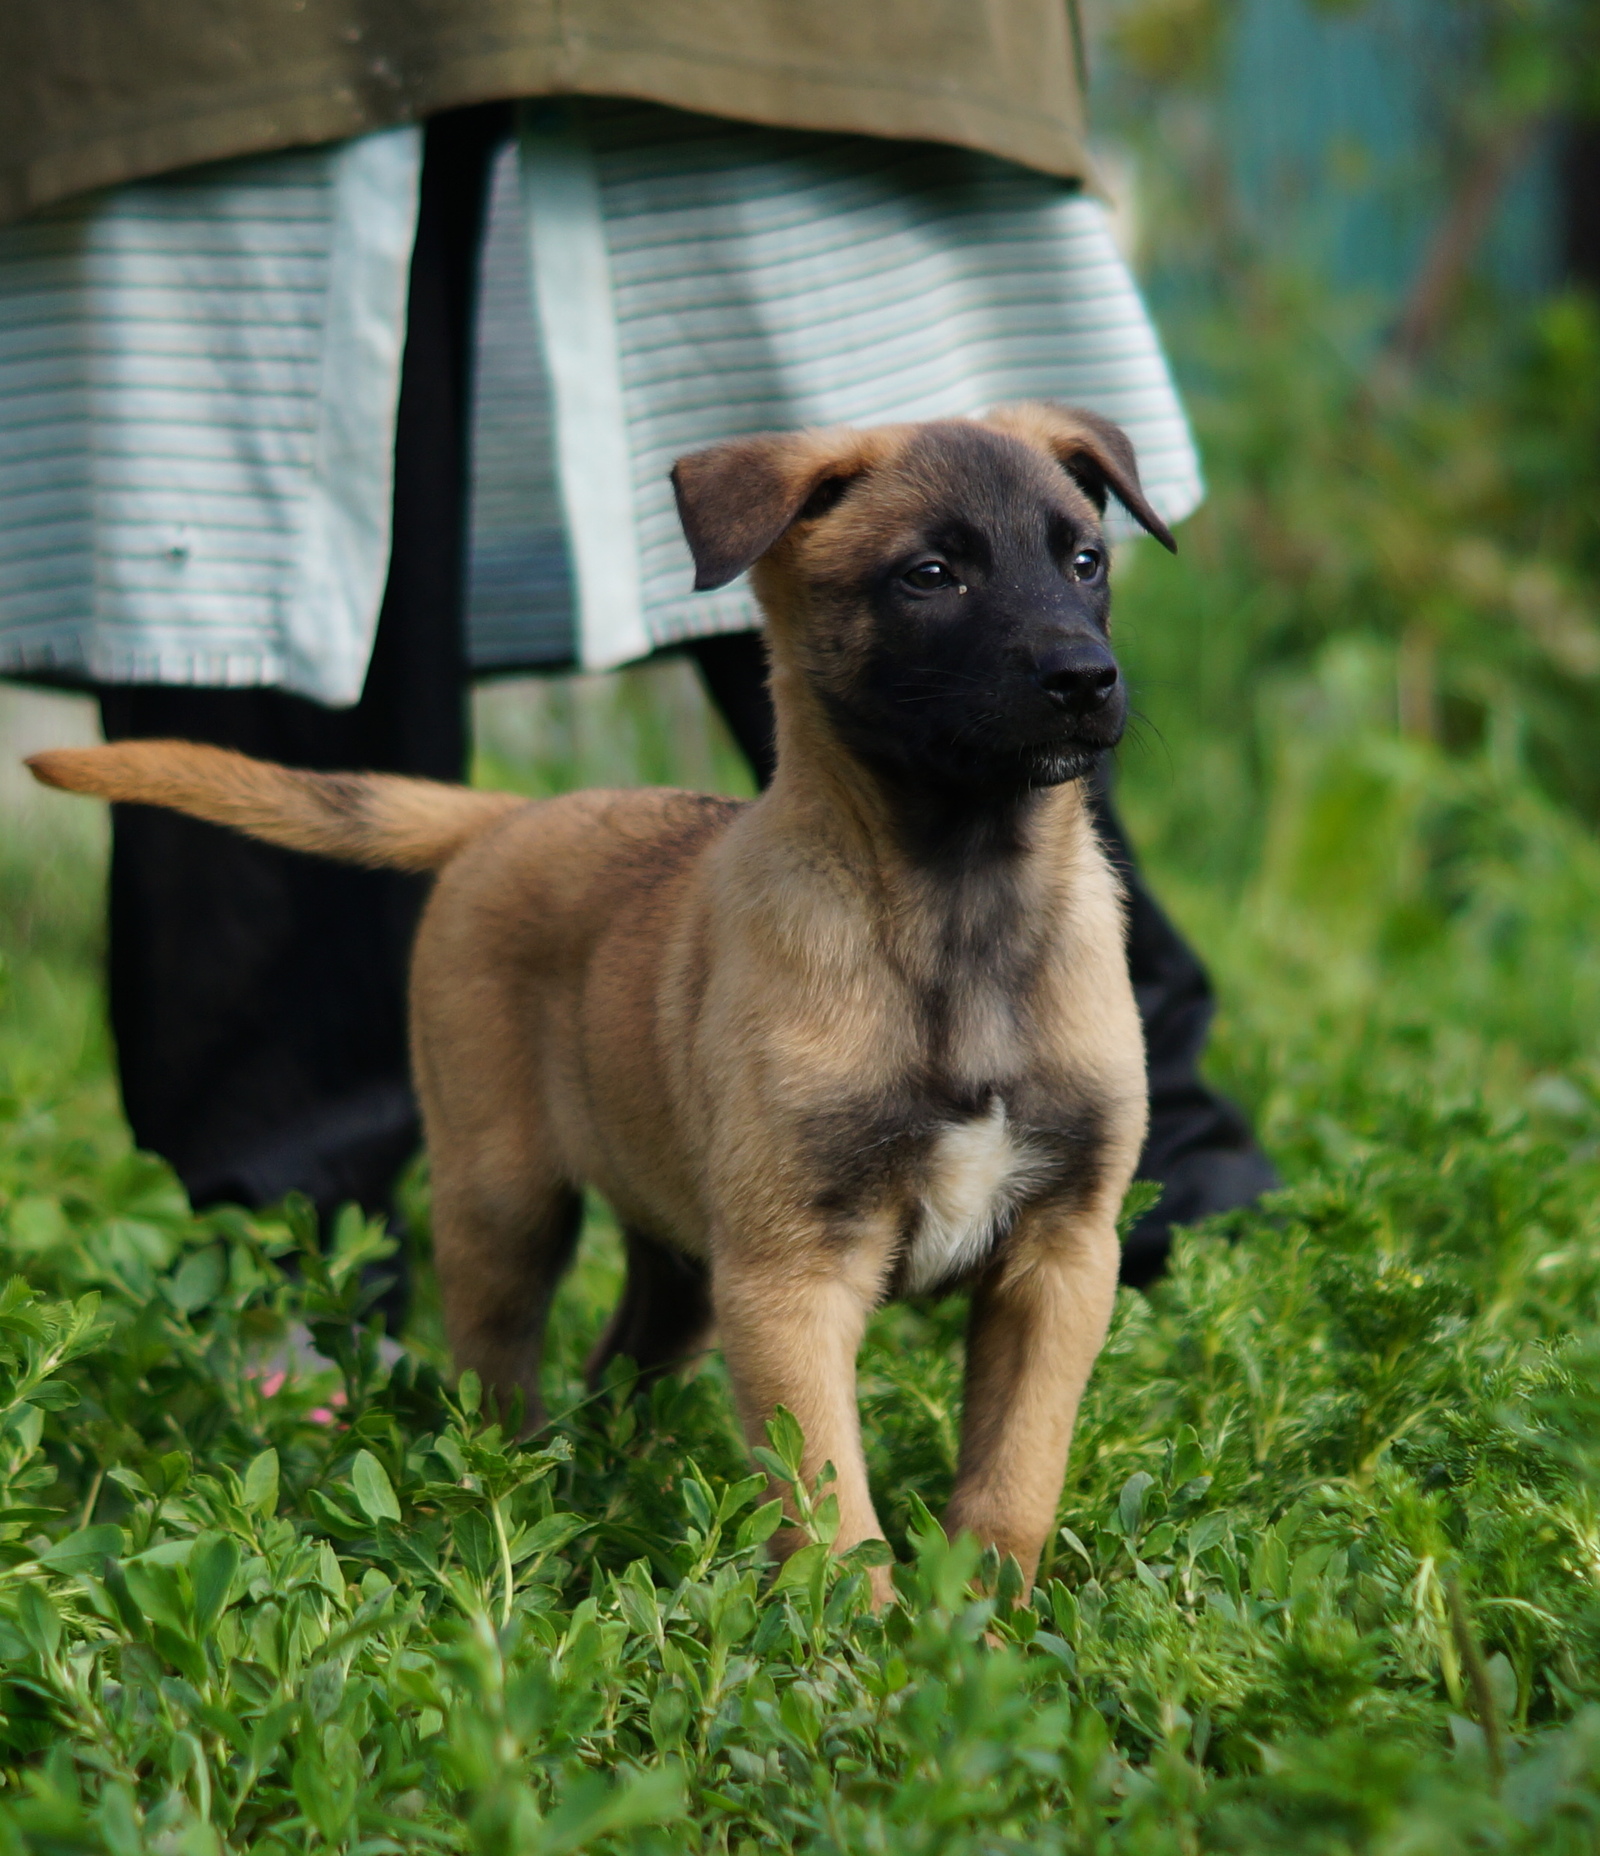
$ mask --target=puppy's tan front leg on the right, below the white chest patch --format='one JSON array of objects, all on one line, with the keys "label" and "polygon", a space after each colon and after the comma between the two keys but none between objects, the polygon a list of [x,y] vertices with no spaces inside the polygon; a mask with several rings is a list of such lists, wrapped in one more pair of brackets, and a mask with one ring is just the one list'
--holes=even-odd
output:
[{"label": "puppy's tan front leg on the right, below the white chest patch", "polygon": [[1041,1208],[973,1292],[961,1457],[945,1526],[1013,1553],[1032,1583],[1117,1290],[1112,1214]]}]

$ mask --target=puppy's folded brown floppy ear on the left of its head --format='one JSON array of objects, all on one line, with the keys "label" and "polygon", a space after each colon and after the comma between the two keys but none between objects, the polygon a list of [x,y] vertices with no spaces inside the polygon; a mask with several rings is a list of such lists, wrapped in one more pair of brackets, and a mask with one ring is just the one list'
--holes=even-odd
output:
[{"label": "puppy's folded brown floppy ear on the left of its head", "polygon": [[741,575],[802,516],[820,516],[867,468],[863,434],[761,432],[690,451],[672,466],[694,590]]}]

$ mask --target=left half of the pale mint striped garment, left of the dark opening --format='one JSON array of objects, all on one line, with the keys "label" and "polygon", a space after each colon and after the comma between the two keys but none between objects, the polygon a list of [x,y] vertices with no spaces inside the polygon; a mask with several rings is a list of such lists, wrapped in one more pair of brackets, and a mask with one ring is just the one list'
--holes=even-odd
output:
[{"label": "left half of the pale mint striped garment, left of the dark opening", "polygon": [[0,670],[360,694],[421,137],[0,232]]}]

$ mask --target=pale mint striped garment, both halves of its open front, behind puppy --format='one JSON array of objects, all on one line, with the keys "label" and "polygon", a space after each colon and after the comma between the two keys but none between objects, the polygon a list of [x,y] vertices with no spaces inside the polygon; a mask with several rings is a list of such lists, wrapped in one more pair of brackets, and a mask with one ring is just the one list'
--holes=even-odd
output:
[{"label": "pale mint striped garment, both halves of its open front, behind puppy", "polygon": [[[416,130],[0,232],[0,670],[360,690],[388,551]],[[668,468],[716,438],[1051,397],[1194,445],[1104,210],[987,156],[657,106],[529,106],[496,169],[479,668],[744,629]]]}]

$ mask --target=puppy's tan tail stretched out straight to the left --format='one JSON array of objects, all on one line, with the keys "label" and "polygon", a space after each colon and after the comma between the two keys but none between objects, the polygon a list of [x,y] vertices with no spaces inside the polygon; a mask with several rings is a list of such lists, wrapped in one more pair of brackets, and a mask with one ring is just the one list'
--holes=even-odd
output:
[{"label": "puppy's tan tail stretched out straight to the left", "polygon": [[115,741],[28,759],[33,778],[69,793],[173,811],[369,869],[438,870],[497,818],[512,793],[401,774],[306,774],[191,741]]}]

